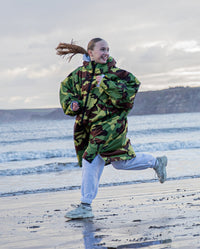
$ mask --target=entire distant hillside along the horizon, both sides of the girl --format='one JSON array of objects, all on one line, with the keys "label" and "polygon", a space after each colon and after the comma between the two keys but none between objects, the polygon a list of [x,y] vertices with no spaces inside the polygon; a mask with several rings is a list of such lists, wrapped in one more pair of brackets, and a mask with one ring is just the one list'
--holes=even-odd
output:
[{"label": "entire distant hillside along the horizon, both sides of the girl", "polygon": [[[129,115],[200,112],[200,87],[139,92]],[[0,122],[70,118],[61,108],[0,110]]]}]

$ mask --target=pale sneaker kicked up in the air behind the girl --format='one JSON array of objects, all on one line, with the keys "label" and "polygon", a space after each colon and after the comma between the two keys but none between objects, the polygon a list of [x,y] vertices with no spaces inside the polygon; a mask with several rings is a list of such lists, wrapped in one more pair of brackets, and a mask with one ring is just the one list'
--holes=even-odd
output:
[{"label": "pale sneaker kicked up in the air behind the girl", "polygon": [[166,156],[156,158],[156,164],[154,170],[158,176],[160,183],[164,183],[166,180],[167,177],[166,166],[167,166]]}]

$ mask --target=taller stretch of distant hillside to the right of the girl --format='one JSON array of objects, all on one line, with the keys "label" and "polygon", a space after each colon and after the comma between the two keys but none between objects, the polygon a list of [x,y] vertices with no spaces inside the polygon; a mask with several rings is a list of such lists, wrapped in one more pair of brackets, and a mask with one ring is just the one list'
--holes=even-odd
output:
[{"label": "taller stretch of distant hillside to the right of the girl", "polygon": [[200,112],[200,87],[139,92],[130,115]]}]

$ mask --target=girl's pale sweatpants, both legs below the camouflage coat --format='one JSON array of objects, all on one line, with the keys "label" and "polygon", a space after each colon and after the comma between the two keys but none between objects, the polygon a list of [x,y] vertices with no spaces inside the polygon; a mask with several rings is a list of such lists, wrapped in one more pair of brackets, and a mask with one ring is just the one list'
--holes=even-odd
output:
[{"label": "girl's pale sweatpants, both legs below the camouflage coat", "polygon": [[[154,168],[156,158],[150,154],[138,153],[135,158],[126,161],[112,162],[115,169],[120,170],[143,170]],[[83,159],[81,202],[91,204],[96,197],[99,187],[99,180],[105,166],[105,161],[97,155],[92,163]]]}]

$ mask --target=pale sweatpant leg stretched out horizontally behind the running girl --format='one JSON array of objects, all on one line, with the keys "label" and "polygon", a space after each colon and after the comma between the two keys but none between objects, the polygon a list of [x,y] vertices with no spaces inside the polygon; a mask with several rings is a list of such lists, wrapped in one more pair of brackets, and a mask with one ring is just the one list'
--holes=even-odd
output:
[{"label": "pale sweatpant leg stretched out horizontally behind the running girl", "polygon": [[122,170],[143,170],[148,168],[154,168],[156,158],[151,154],[137,153],[135,158],[126,161],[112,162],[112,165],[116,169]]}]

